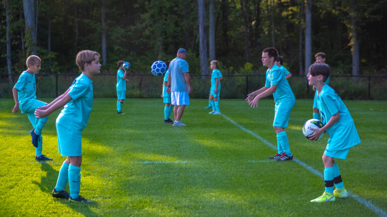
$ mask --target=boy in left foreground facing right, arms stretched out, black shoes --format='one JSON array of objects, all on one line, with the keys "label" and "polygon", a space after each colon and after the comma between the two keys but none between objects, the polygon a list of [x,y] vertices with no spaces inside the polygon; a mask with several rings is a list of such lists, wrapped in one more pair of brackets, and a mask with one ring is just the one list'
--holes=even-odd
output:
[{"label": "boy in left foreground facing right, arms stretched out, black shoes", "polygon": [[[100,55],[91,50],[82,50],[77,54],[77,65],[82,71],[70,88],[54,99],[50,104],[35,110],[37,118],[45,117],[63,107],[56,118],[58,150],[66,156],[56,185],[52,191],[55,198],[66,198],[70,202],[90,202],[79,195],[81,189],[82,130],[89,121],[93,107],[93,75],[99,73]],[[70,194],[64,190],[69,181]]]}]

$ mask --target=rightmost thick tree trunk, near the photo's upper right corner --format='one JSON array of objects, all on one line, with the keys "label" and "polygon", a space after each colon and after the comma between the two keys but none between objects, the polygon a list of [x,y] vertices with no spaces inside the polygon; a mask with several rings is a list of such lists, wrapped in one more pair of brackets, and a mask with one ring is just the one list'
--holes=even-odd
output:
[{"label": "rightmost thick tree trunk, near the photo's upper right corner", "polygon": [[[351,0],[351,41],[352,41],[352,76],[359,76],[359,40],[356,31],[355,3]],[[359,77],[353,77],[353,81],[359,81]]]}]

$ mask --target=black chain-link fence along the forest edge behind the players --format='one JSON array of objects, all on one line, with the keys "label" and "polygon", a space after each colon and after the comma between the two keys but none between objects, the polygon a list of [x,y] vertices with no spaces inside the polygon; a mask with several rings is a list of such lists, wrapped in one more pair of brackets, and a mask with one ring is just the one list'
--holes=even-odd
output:
[{"label": "black chain-link fence along the forest edge behind the players", "polygon": [[[20,74],[0,74],[0,98],[13,98],[12,88]],[[65,92],[79,74],[38,74],[36,75],[36,95],[38,98],[55,98]],[[211,76],[190,75],[193,93],[191,98],[207,98],[211,87]],[[248,93],[265,85],[265,75],[223,75],[221,98],[241,99]],[[160,98],[162,77],[151,74],[131,74],[127,77],[127,98]],[[297,99],[310,99],[314,91],[308,86],[305,76],[293,75],[289,84]],[[95,98],[116,98],[115,74],[98,74],[93,78]],[[387,100],[387,76],[335,76],[330,78],[330,86],[342,99]]]}]

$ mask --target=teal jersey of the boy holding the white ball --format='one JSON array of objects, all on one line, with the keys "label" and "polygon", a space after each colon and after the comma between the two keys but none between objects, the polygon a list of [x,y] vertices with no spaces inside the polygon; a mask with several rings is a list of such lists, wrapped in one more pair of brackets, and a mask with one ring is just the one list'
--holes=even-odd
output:
[{"label": "teal jersey of the boy holding the white ball", "polygon": [[327,129],[329,134],[327,149],[345,150],[360,143],[351,114],[340,96],[330,86],[322,87],[317,96],[317,108],[323,124],[326,124],[334,114],[338,112],[340,114],[340,119]]}]

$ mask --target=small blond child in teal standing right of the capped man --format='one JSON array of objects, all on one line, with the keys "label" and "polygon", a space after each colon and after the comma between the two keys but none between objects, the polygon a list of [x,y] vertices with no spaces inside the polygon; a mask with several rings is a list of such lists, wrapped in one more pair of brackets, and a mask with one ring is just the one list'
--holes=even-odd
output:
[{"label": "small blond child in teal standing right of the capped man", "polygon": [[219,62],[217,60],[212,60],[210,64],[212,71],[211,74],[211,89],[210,89],[210,101],[212,106],[212,112],[209,114],[218,115],[220,113],[219,109],[219,96],[220,96],[220,80],[223,79],[222,73],[218,69]]}]

